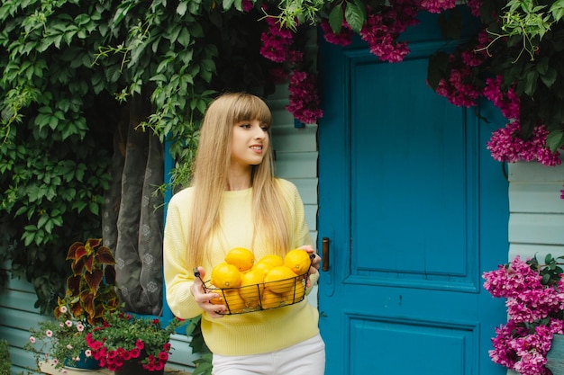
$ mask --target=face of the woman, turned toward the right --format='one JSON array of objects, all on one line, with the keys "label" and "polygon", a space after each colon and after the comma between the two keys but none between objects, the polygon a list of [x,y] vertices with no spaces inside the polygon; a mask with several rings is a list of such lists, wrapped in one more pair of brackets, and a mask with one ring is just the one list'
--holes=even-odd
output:
[{"label": "face of the woman, turned toward the right", "polygon": [[258,120],[241,121],[233,125],[232,166],[259,165],[268,150],[268,125]]}]

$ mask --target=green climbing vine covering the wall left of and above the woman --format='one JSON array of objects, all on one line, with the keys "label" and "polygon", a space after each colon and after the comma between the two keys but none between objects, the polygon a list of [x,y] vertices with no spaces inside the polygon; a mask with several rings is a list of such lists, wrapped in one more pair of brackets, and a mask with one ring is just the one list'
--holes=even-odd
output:
[{"label": "green climbing vine covering the wall left of and above the woman", "polygon": [[272,92],[259,58],[264,14],[241,6],[0,4],[0,258],[32,282],[42,312],[63,295],[68,245],[100,237],[113,137],[133,96],[150,101],[141,129],[169,142],[176,186],[189,179],[199,122],[218,91]]}]

